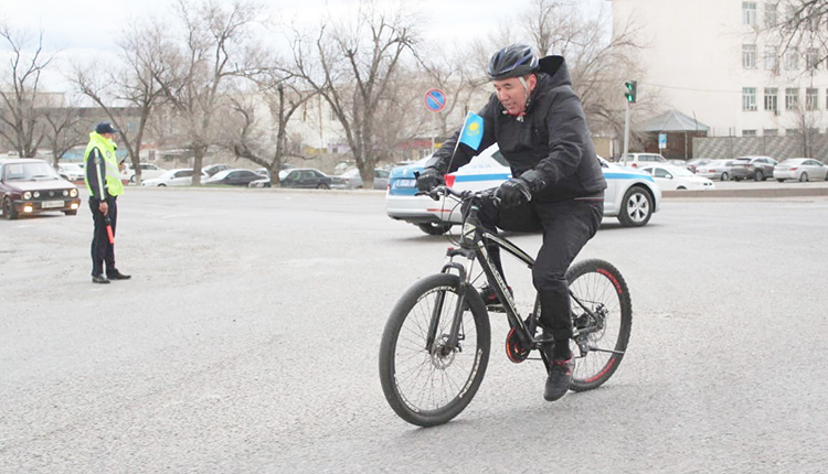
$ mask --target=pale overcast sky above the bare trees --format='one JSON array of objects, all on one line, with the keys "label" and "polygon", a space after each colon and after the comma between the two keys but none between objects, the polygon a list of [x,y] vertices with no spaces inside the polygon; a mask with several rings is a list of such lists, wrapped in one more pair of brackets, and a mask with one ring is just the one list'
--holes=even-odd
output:
[{"label": "pale overcast sky above the bare trees", "polygon": [[[503,18],[514,18],[529,0],[414,0],[429,20],[423,25],[428,40],[465,43],[488,31],[497,30]],[[119,29],[131,19],[169,14],[171,0],[3,0],[0,20],[32,34],[43,31],[47,51],[60,50],[63,60],[112,54]],[[314,21],[321,15],[322,0],[265,0],[269,12],[283,18]],[[329,0],[330,4],[355,3],[355,0]],[[592,11],[609,9],[606,0],[583,0]],[[318,20],[316,20],[318,22]],[[315,23],[316,23],[315,22]],[[0,44],[0,50],[8,50]],[[47,78],[52,82],[54,78]]]}]

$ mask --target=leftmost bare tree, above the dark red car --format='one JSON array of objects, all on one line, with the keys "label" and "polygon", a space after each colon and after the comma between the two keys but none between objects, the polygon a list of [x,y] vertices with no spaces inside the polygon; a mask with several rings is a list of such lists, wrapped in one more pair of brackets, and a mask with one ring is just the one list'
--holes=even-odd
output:
[{"label": "leftmost bare tree, above the dark red car", "polygon": [[0,23],[0,39],[11,49],[7,80],[0,83],[0,136],[18,155],[32,158],[44,139],[41,74],[54,55],[44,55],[42,31],[31,53],[26,51],[30,43],[26,33],[13,30],[6,22]]}]

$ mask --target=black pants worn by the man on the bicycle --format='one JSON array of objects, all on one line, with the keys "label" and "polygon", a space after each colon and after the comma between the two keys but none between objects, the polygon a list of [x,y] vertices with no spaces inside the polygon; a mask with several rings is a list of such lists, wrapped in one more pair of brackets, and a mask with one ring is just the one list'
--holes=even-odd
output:
[{"label": "black pants worn by the man on the bicycle", "polygon": [[[566,270],[581,249],[601,226],[604,215],[603,194],[590,200],[530,202],[501,209],[484,202],[480,223],[489,231],[543,230],[543,245],[532,268],[532,282],[541,300],[540,324],[556,341],[572,336],[572,311]],[[487,248],[502,273],[500,250]]]}]

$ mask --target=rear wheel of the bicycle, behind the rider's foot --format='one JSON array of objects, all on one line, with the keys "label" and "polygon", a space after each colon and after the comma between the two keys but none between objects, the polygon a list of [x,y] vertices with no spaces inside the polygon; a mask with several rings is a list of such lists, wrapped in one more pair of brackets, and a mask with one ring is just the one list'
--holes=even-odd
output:
[{"label": "rear wheel of the bicycle, behind the rider's foot", "polygon": [[[575,327],[597,327],[597,331],[581,335],[572,343],[575,369],[570,389],[592,390],[615,374],[627,349],[633,326],[629,290],[618,269],[604,260],[580,261],[569,269],[566,279],[572,293]],[[588,348],[586,354],[581,353],[577,343]]]}]

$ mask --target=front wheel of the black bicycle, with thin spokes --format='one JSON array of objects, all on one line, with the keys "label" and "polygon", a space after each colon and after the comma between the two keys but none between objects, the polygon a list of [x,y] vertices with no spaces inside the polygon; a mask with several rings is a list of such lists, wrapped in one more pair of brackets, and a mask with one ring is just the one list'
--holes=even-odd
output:
[{"label": "front wheel of the black bicycle, with thin spokes", "polygon": [[397,301],[385,324],[380,344],[382,390],[396,414],[412,424],[433,427],[455,418],[475,397],[486,374],[489,315],[470,286],[466,287],[460,351],[440,355],[425,348],[437,295],[444,293],[445,299],[435,341],[449,330],[460,284],[459,277],[448,273],[420,280]]}]

